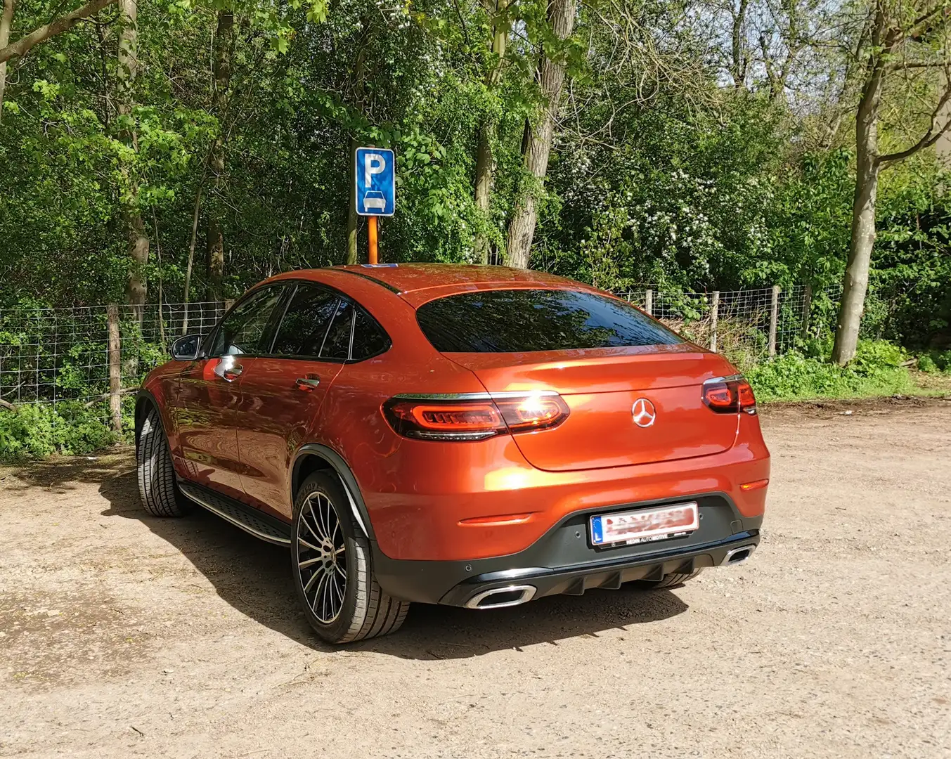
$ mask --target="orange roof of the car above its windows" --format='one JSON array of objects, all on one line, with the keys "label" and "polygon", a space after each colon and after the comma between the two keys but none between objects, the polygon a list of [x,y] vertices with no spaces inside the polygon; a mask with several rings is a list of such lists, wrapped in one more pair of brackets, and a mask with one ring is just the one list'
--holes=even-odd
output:
[{"label": "orange roof of the car above its windows", "polygon": [[268,282],[284,279],[336,281],[340,273],[355,275],[363,282],[377,282],[403,302],[418,307],[454,293],[509,288],[593,289],[543,271],[488,266],[476,263],[378,263],[349,264],[325,269],[300,269],[285,272]]}]

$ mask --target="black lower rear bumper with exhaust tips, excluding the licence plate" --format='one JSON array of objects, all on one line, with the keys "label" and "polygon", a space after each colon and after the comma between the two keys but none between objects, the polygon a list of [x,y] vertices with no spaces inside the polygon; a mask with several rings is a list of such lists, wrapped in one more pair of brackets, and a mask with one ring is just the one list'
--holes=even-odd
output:
[{"label": "black lower rear bumper with exhaust tips, excluding the licence plate", "polygon": [[[731,551],[759,545],[763,517],[741,515],[725,493],[689,498],[697,501],[701,516],[700,528],[691,535],[634,546],[591,545],[588,522],[594,514],[685,500],[688,498],[667,498],[576,512],[525,551],[506,556],[469,561],[399,560],[384,555],[374,544],[374,570],[380,586],[397,598],[486,606],[544,595],[579,595],[592,588],[619,588],[632,580],[689,573],[723,564]],[[736,554],[738,558],[744,555],[742,551]],[[504,593],[491,593],[503,589]]]}]

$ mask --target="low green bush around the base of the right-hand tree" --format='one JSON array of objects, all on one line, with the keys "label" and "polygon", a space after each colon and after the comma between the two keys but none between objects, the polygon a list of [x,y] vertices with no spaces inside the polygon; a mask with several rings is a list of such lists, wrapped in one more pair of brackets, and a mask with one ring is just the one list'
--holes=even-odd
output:
[{"label": "low green bush around the base of the right-hand tree", "polygon": [[[815,345],[806,350],[816,351]],[[825,352],[824,352],[825,353]],[[754,366],[747,379],[760,400],[805,400],[895,395],[915,389],[902,348],[887,341],[861,341],[847,366],[830,363],[825,355],[792,351]]]}]

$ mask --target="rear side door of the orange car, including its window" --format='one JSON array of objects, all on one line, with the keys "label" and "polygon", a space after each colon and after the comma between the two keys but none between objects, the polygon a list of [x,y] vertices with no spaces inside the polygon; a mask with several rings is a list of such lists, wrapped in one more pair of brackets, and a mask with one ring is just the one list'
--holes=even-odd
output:
[{"label": "rear side door of the orange car, including its window", "polygon": [[291,457],[349,355],[353,304],[320,285],[299,283],[269,355],[245,364],[238,450],[248,500],[291,517]]}]

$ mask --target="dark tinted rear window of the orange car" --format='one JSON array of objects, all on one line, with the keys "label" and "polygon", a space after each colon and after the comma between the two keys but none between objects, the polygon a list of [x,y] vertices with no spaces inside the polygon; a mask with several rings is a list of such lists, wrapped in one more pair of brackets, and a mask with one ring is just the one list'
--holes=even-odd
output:
[{"label": "dark tinted rear window of the orange car", "polygon": [[486,290],[424,303],[419,327],[441,353],[671,345],[683,339],[626,302],[580,290]]}]

